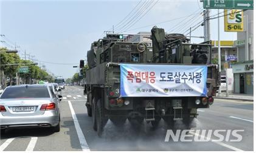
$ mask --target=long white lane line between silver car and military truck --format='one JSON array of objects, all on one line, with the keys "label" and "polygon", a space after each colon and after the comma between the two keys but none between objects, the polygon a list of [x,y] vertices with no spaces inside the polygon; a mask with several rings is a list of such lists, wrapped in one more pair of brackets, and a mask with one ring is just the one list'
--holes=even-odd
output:
[{"label": "long white lane line between silver car and military truck", "polygon": [[79,122],[77,120],[77,116],[75,115],[75,111],[73,109],[73,106],[71,104],[71,101],[67,101],[69,103],[69,108],[71,110],[71,114],[72,114],[72,118],[75,124],[75,130],[77,131],[77,136],[78,139],[80,141],[80,145],[81,145],[81,149],[83,149],[83,151],[89,151],[89,146],[87,144],[87,141],[85,140],[85,136],[83,135],[83,131],[81,131],[81,127],[79,125]]}]

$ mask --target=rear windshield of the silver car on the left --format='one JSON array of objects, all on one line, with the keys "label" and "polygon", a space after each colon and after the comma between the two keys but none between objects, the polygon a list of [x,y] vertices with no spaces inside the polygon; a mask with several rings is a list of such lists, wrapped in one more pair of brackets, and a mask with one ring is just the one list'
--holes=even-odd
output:
[{"label": "rear windshield of the silver car on the left", "polygon": [[7,98],[50,98],[50,95],[47,87],[9,87],[1,95],[1,99]]}]

